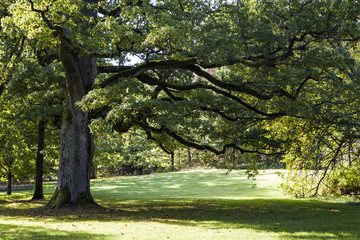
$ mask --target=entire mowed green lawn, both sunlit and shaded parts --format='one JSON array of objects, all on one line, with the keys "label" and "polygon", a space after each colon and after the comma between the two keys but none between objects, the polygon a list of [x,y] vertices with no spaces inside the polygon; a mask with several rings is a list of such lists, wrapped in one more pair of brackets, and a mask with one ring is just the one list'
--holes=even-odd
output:
[{"label": "entire mowed green lawn, both sunlit and shaded parts", "polygon": [[[0,239],[360,239],[360,205],[285,197],[275,171],[203,170],[92,181],[104,208],[42,208],[0,193]],[[55,183],[45,183],[50,198]]]}]

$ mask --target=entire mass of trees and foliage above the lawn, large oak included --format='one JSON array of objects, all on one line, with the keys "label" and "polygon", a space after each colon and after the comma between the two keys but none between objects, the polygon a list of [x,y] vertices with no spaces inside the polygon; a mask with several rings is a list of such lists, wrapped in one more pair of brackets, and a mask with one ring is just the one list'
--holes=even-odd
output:
[{"label": "entire mass of trees and foliage above the lawn, large oak included", "polygon": [[[183,167],[289,170],[298,197],[360,194],[355,0],[2,0],[0,181]],[[137,59],[137,61],[134,61]]]}]

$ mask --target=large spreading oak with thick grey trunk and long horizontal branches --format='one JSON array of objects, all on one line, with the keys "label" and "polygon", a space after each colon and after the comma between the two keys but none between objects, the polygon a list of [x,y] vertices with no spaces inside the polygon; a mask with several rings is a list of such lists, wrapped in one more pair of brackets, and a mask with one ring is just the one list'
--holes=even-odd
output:
[{"label": "large spreading oak with thick grey trunk and long horizontal branches", "polygon": [[66,77],[55,208],[95,204],[92,118],[159,143],[271,154],[283,141],[269,125],[311,118],[302,92],[353,64],[340,49],[360,38],[357,1],[6,2],[3,29],[56,49]]}]

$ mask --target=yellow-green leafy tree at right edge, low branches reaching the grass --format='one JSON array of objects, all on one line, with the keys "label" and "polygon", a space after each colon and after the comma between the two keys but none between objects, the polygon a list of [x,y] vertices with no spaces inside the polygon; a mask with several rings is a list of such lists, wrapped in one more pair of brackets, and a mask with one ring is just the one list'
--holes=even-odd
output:
[{"label": "yellow-green leafy tree at right edge, low branches reaching the grass", "polygon": [[[297,136],[285,159],[288,167],[295,170],[283,185],[290,194],[306,197],[359,193],[358,63],[344,69],[327,76],[326,82],[331,81],[336,88],[325,85],[327,93],[321,101],[314,98],[316,119],[298,120],[298,127],[287,133],[292,138]],[[304,181],[306,187],[300,187]]]}]

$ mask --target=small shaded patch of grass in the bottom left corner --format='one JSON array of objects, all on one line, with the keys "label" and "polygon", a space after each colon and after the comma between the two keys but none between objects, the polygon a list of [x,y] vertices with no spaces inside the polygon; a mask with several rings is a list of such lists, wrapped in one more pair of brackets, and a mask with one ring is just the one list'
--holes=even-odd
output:
[{"label": "small shaded patch of grass in the bottom left corner", "polygon": [[0,224],[0,239],[105,239],[104,235],[54,230],[16,224]]}]

